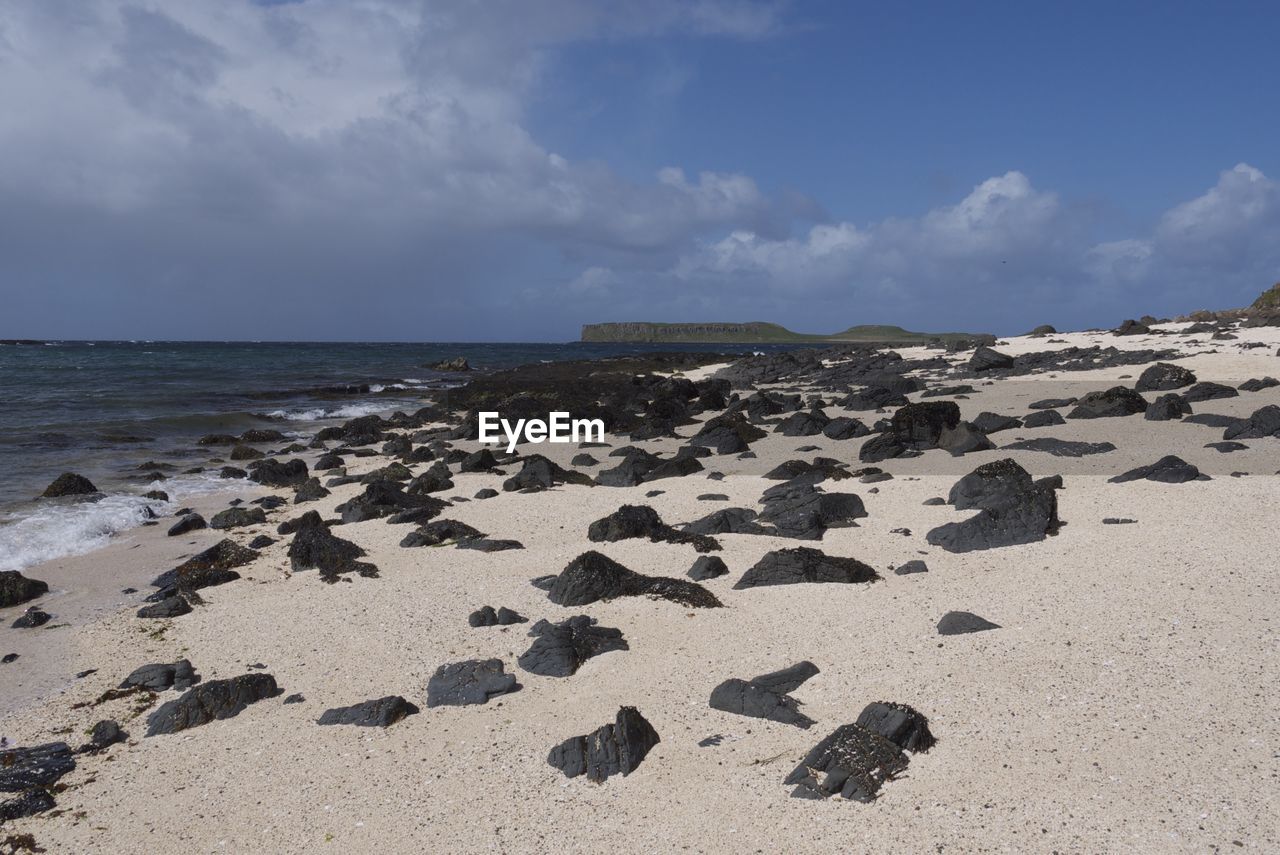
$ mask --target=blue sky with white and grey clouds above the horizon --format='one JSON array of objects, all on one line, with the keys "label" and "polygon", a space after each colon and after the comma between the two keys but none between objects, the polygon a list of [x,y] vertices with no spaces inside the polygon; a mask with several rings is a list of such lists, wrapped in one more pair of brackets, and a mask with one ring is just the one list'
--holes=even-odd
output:
[{"label": "blue sky with white and grey clouds above the horizon", "polygon": [[0,0],[0,338],[1248,305],[1277,33],[1230,1]]}]

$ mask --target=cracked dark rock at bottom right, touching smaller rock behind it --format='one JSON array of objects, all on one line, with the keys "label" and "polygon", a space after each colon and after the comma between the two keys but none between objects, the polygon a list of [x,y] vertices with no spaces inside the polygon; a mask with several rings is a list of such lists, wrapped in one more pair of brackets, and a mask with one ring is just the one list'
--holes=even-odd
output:
[{"label": "cracked dark rock at bottom right, touching smaller rock behind it", "polygon": [[841,795],[869,803],[906,765],[906,754],[886,737],[861,724],[844,724],[818,742],[783,783],[794,785],[791,795],[800,799]]}]

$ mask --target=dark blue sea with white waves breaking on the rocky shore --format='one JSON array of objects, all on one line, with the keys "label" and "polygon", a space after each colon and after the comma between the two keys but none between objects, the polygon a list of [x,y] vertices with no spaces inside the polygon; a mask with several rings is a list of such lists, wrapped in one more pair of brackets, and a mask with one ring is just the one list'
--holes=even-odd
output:
[{"label": "dark blue sea with white waves breaking on the rocky shore", "polygon": [[[225,448],[205,434],[274,427],[314,433],[367,413],[413,410],[430,389],[466,383],[430,365],[457,356],[477,370],[654,351],[746,353],[762,344],[54,342],[0,346],[0,570],[93,549],[198,493],[228,488],[179,475]],[[140,463],[175,468],[163,483]],[[100,502],[35,500],[61,472],[84,475]],[[168,504],[147,500],[151,489]]]}]

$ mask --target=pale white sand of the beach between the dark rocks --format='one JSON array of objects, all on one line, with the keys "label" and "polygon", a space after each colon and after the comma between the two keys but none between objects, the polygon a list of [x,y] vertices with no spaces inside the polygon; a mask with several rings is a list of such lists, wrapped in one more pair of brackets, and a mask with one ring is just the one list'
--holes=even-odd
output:
[{"label": "pale white sand of the beach between the dark rocks", "polygon": [[[1220,353],[1181,362],[1204,380],[1280,376],[1276,333],[1242,330],[1240,342],[1266,340],[1267,347],[1213,343]],[[1096,339],[1125,348],[1185,342]],[[1048,347],[1065,346],[1010,339],[1000,349]],[[978,392],[959,403],[966,417],[984,410],[1024,415],[1033,399],[1106,388],[1142,367],[974,384]],[[1280,389],[1268,389],[1196,411],[1247,415],[1277,402]],[[731,573],[707,586],[723,609],[635,598],[566,609],[529,580],[558,572],[588,548],[639,572],[682,576],[696,558],[691,547],[589,544],[588,523],[623,503],[649,503],[667,522],[718,507],[758,507],[763,489],[774,484],[763,472],[812,456],[795,448],[819,445],[813,453],[856,467],[861,440],[771,435],[753,445],[758,459],[704,459],[708,471],[726,474],[723,481],[699,474],[631,489],[502,494],[443,515],[518,539],[526,547],[520,552],[401,549],[397,543],[411,529],[384,521],[338,529],[369,550],[380,579],[325,585],[315,572],[291,576],[285,538],[242,570],[242,581],[202,591],[207,604],[182,618],[157,625],[133,617],[131,608],[77,613],[69,627],[28,631],[56,637],[50,649],[58,658],[29,651],[0,669],[5,695],[24,662],[50,669],[31,683],[35,689],[23,690],[38,689],[45,699],[12,704],[17,709],[0,719],[0,733],[18,744],[74,744],[93,722],[115,717],[132,739],[82,758],[63,779],[68,788],[58,795],[56,815],[24,819],[13,829],[29,831],[49,851],[78,852],[301,852],[325,843],[333,851],[1202,852],[1233,851],[1236,842],[1245,851],[1276,851],[1280,573],[1274,531],[1280,489],[1272,474],[1280,468],[1280,440],[1249,440],[1251,451],[1221,454],[1203,448],[1221,430],[1140,417],[993,435],[997,444],[1020,436],[1106,439],[1119,447],[1078,461],[1012,454],[1036,476],[1065,476],[1060,515],[1066,525],[1057,536],[960,555],[929,547],[924,534],[961,515],[922,502],[946,495],[979,463],[1009,454],[928,452],[883,463],[897,477],[874,485],[876,491],[856,480],[824,484],[863,497],[869,516],[859,527],[831,530],[820,543],[719,536],[724,550],[717,554]],[[628,444],[609,439],[614,447]],[[564,463],[577,452],[567,445],[522,451]],[[612,466],[608,451],[590,453]],[[1106,483],[1166,453],[1197,463],[1213,480]],[[383,461],[348,462],[362,472]],[[1230,477],[1236,470],[1252,475]],[[454,481],[445,495],[500,489],[502,476]],[[652,489],[664,493],[645,499]],[[357,491],[340,488],[305,507],[328,513]],[[698,500],[703,493],[724,493],[730,500]],[[275,536],[275,523],[297,512],[284,508],[259,529]],[[1101,525],[1108,516],[1138,523]],[[891,531],[902,526],[910,535]],[[252,534],[242,530],[236,539]],[[27,575],[67,590],[141,587],[173,566],[177,553],[219,536],[205,531],[173,544],[163,529],[148,529]],[[881,570],[884,581],[731,590],[765,552],[795,545],[856,557]],[[911,558],[924,558],[931,572],[888,572]],[[56,611],[61,600],[49,602]],[[621,628],[631,649],[591,659],[568,678],[517,669],[524,689],[484,707],[426,709],[425,685],[438,666],[498,657],[511,671],[527,649],[527,625],[467,626],[467,614],[484,604],[515,608],[532,621],[590,614]],[[951,609],[977,612],[1002,628],[942,639],[934,625]],[[5,650],[20,643],[19,631],[8,628],[15,612],[3,614]],[[160,625],[165,631],[154,634]],[[142,737],[142,718],[129,718],[129,700],[70,709],[137,666],[180,657],[206,680],[264,663],[285,694],[302,692],[306,703],[266,700],[237,718],[154,739]],[[818,721],[812,730],[708,708],[722,680],[800,659],[820,668],[794,692]],[[65,682],[95,667],[97,673]],[[64,690],[49,694],[54,683]],[[314,723],[329,707],[388,694],[404,695],[422,713],[385,731]],[[938,745],[914,756],[908,774],[887,783],[874,804],[788,797],[782,778],[873,700],[924,712]],[[637,707],[662,737],[636,772],[593,785],[566,779],[547,764],[553,745],[612,721],[622,704]],[[698,746],[716,733],[726,737],[721,745]]]}]

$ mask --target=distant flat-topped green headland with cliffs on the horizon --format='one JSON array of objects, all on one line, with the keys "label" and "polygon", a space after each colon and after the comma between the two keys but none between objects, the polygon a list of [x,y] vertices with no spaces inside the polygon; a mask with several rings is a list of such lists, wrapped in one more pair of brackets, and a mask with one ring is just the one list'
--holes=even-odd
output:
[{"label": "distant flat-topped green headland with cliffs on the horizon", "polygon": [[850,326],[842,333],[815,335],[792,333],[786,326],[764,321],[745,324],[585,324],[584,342],[685,342],[685,343],[745,343],[786,344],[805,342],[855,342],[873,344],[924,344],[932,340],[952,339],[995,342],[987,333],[913,333],[901,326],[863,325]]}]

